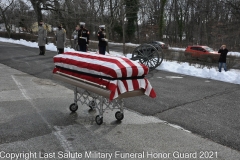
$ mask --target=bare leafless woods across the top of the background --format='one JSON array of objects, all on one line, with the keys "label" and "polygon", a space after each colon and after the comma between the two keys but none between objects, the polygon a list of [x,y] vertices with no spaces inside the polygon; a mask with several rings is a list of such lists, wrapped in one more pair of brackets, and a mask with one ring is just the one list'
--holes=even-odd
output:
[{"label": "bare leafless woods across the top of the background", "polygon": [[86,23],[90,39],[98,26],[106,25],[110,41],[146,43],[162,40],[170,46],[192,44],[218,48],[226,44],[240,49],[239,0],[2,0],[0,23],[11,34],[11,26],[31,31],[43,19],[62,23],[71,34],[80,21]]}]

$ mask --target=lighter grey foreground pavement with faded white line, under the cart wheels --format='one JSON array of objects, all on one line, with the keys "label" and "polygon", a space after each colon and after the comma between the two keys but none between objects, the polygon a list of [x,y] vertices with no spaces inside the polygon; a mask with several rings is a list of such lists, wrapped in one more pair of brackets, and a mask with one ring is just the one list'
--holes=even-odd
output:
[{"label": "lighter grey foreground pavement with faded white line, under the cart wheels", "polygon": [[[33,153],[31,159],[224,159],[240,152],[168,124],[156,117],[125,109],[121,123],[115,111],[104,114],[81,106],[72,114],[73,91],[54,80],[40,79],[0,64],[1,159]],[[88,157],[101,156],[101,157]],[[61,156],[65,154],[64,158]],[[111,157],[110,157],[111,156]],[[52,158],[51,158],[52,157]]]}]

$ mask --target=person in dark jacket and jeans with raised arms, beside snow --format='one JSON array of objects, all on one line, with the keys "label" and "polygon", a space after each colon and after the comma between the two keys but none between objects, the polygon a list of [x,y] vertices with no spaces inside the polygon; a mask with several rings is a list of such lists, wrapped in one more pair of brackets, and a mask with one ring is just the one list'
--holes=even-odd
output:
[{"label": "person in dark jacket and jeans with raised arms, beside snow", "polygon": [[222,45],[221,48],[219,49],[218,53],[220,53],[220,57],[218,60],[218,62],[219,62],[218,71],[221,72],[222,67],[223,67],[226,72],[227,71],[226,61],[227,61],[227,53],[228,53],[228,49],[226,48],[226,45]]}]

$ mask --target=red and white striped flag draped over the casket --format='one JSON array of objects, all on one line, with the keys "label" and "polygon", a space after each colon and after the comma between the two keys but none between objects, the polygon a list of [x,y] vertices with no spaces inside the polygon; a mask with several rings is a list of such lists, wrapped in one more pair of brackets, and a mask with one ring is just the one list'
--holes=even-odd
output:
[{"label": "red and white striped flag draped over the casket", "polygon": [[109,99],[128,91],[144,89],[144,94],[156,97],[150,82],[144,78],[148,67],[126,57],[100,55],[86,52],[65,52],[53,57],[53,73],[62,72],[85,79],[110,90]]}]

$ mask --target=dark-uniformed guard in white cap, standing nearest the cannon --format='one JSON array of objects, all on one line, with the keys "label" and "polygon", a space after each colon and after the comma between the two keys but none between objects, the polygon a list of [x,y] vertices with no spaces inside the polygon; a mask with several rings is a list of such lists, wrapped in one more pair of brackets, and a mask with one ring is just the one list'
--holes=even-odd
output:
[{"label": "dark-uniformed guard in white cap, standing nearest the cannon", "polygon": [[98,32],[98,47],[99,53],[105,55],[108,39],[106,38],[105,25],[99,26]]}]

